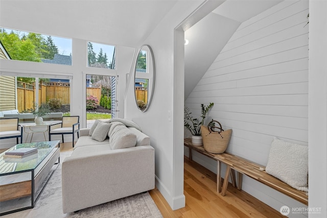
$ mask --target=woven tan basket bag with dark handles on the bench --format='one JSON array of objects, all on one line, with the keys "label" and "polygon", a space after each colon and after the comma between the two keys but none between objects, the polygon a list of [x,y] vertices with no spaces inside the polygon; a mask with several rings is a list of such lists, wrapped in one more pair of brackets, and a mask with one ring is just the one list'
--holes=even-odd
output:
[{"label": "woven tan basket bag with dark handles on the bench", "polygon": [[[214,126],[214,122],[218,123],[220,127]],[[219,129],[219,131],[215,129]],[[205,151],[221,154],[227,149],[231,136],[231,129],[224,131],[218,121],[212,120],[208,126],[201,126],[201,135]]]}]

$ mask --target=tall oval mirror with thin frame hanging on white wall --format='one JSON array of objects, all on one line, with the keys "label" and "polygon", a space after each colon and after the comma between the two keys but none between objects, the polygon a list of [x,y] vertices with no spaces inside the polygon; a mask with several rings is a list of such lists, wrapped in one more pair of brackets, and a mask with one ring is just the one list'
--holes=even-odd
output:
[{"label": "tall oval mirror with thin frame hanging on white wall", "polygon": [[134,78],[136,105],[145,112],[151,103],[155,79],[154,57],[149,45],[142,45],[138,52]]}]

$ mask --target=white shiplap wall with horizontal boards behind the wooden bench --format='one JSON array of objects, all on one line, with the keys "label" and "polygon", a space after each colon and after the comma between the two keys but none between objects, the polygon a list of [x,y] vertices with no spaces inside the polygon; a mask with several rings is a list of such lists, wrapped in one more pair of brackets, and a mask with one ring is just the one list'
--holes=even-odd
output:
[{"label": "white shiplap wall with horizontal boards behind the wooden bench", "polygon": [[[208,118],[232,129],[229,153],[266,165],[274,136],[308,145],[308,8],[284,1],[243,22],[186,99],[197,116],[201,103],[215,103]],[[275,209],[297,205],[250,179],[243,187],[264,201],[275,195]]]}]

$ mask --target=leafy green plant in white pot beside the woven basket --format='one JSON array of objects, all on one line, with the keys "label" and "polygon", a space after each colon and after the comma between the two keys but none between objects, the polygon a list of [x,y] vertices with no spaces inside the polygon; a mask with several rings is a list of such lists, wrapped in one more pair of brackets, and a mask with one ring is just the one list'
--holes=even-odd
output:
[{"label": "leafy green plant in white pot beside the woven basket", "polygon": [[184,107],[184,127],[190,130],[192,144],[195,146],[202,146],[201,126],[204,124],[204,119],[213,106],[214,103],[209,103],[207,106],[201,104],[201,120],[199,118],[193,118],[190,109],[186,106]]}]

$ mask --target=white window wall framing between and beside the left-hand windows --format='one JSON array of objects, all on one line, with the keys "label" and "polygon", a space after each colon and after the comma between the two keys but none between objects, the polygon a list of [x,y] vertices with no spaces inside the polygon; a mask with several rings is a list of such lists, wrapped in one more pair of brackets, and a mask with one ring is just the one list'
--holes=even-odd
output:
[{"label": "white window wall framing between and beside the left-hand windows", "polygon": [[[28,30],[28,27],[27,27]],[[43,33],[46,34],[46,33]],[[72,66],[48,64],[28,61],[0,60],[0,75],[22,77],[56,76],[62,79],[71,79],[71,114],[80,116],[81,128],[86,126],[86,74],[105,76],[119,76],[118,80],[118,113],[117,117],[124,117],[124,93],[126,89],[126,75],[129,74],[135,48],[116,46],[116,69],[101,69],[87,67],[87,41],[72,39]],[[102,42],[110,44],[110,42]],[[35,137],[35,138],[34,138]],[[24,137],[25,139],[25,137]],[[61,136],[53,136],[53,140],[60,140]],[[42,134],[33,136],[33,141],[44,140]],[[0,148],[10,148],[16,140],[2,140]],[[72,141],[72,136],[65,136],[65,142]]]}]

